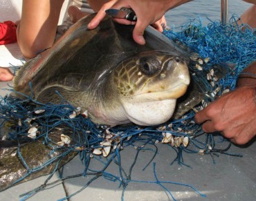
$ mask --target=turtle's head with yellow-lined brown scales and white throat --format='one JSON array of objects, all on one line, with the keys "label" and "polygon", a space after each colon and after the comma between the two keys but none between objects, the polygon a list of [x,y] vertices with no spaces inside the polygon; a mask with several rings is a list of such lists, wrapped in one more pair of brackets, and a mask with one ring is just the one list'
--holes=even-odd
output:
[{"label": "turtle's head with yellow-lined brown scales and white throat", "polygon": [[185,60],[176,53],[140,52],[116,66],[113,84],[131,122],[156,125],[172,117],[190,75]]}]

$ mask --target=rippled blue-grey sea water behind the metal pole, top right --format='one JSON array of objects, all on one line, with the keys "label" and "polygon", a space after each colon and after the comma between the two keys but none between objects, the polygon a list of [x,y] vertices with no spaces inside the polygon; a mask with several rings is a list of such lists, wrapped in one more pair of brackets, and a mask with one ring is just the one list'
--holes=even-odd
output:
[{"label": "rippled blue-grey sea water behind the metal pole, top right", "polygon": [[[229,18],[233,14],[240,16],[245,10],[253,4],[242,0],[229,0]],[[167,25],[180,26],[190,19],[201,17],[204,24],[212,21],[221,20],[221,0],[194,0],[185,3],[177,8],[169,10],[166,15]]]}]

